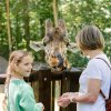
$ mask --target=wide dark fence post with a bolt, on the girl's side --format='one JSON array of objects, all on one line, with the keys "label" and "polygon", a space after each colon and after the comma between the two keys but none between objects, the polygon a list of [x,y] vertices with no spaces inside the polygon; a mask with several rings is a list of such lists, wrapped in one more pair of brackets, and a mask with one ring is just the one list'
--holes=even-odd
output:
[{"label": "wide dark fence post with a bolt, on the girl's side", "polygon": [[40,71],[39,73],[39,101],[44,104],[46,111],[51,108],[51,72]]}]

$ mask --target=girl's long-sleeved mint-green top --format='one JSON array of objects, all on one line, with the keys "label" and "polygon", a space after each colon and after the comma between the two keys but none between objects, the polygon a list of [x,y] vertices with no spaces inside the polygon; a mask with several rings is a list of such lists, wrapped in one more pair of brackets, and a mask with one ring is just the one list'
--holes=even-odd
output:
[{"label": "girl's long-sleeved mint-green top", "polygon": [[24,80],[10,80],[8,111],[42,111],[42,105],[36,103],[32,88]]}]

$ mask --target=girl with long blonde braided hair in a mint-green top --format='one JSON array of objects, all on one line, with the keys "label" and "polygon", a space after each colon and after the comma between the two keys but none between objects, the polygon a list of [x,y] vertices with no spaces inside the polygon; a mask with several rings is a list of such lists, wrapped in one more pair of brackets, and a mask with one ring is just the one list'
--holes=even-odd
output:
[{"label": "girl with long blonde braided hair in a mint-green top", "polygon": [[43,111],[42,103],[36,103],[32,88],[23,80],[30,75],[32,62],[31,54],[26,51],[11,53],[6,80],[8,111]]}]

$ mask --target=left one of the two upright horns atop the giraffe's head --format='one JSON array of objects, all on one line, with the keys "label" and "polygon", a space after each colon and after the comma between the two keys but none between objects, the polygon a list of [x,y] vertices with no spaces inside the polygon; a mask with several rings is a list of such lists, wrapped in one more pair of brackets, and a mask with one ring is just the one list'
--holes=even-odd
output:
[{"label": "left one of the two upright horns atop the giraffe's head", "polygon": [[46,20],[46,34],[52,33],[53,31],[53,24],[51,19]]}]

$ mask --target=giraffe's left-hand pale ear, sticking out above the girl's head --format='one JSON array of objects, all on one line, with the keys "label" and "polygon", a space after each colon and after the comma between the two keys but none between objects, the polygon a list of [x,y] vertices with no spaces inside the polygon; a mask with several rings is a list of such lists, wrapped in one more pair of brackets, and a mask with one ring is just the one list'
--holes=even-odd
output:
[{"label": "giraffe's left-hand pale ear, sticking out above the girl's head", "polygon": [[30,48],[33,49],[36,52],[40,50],[44,50],[44,46],[42,41],[39,41],[39,42],[30,41]]}]

